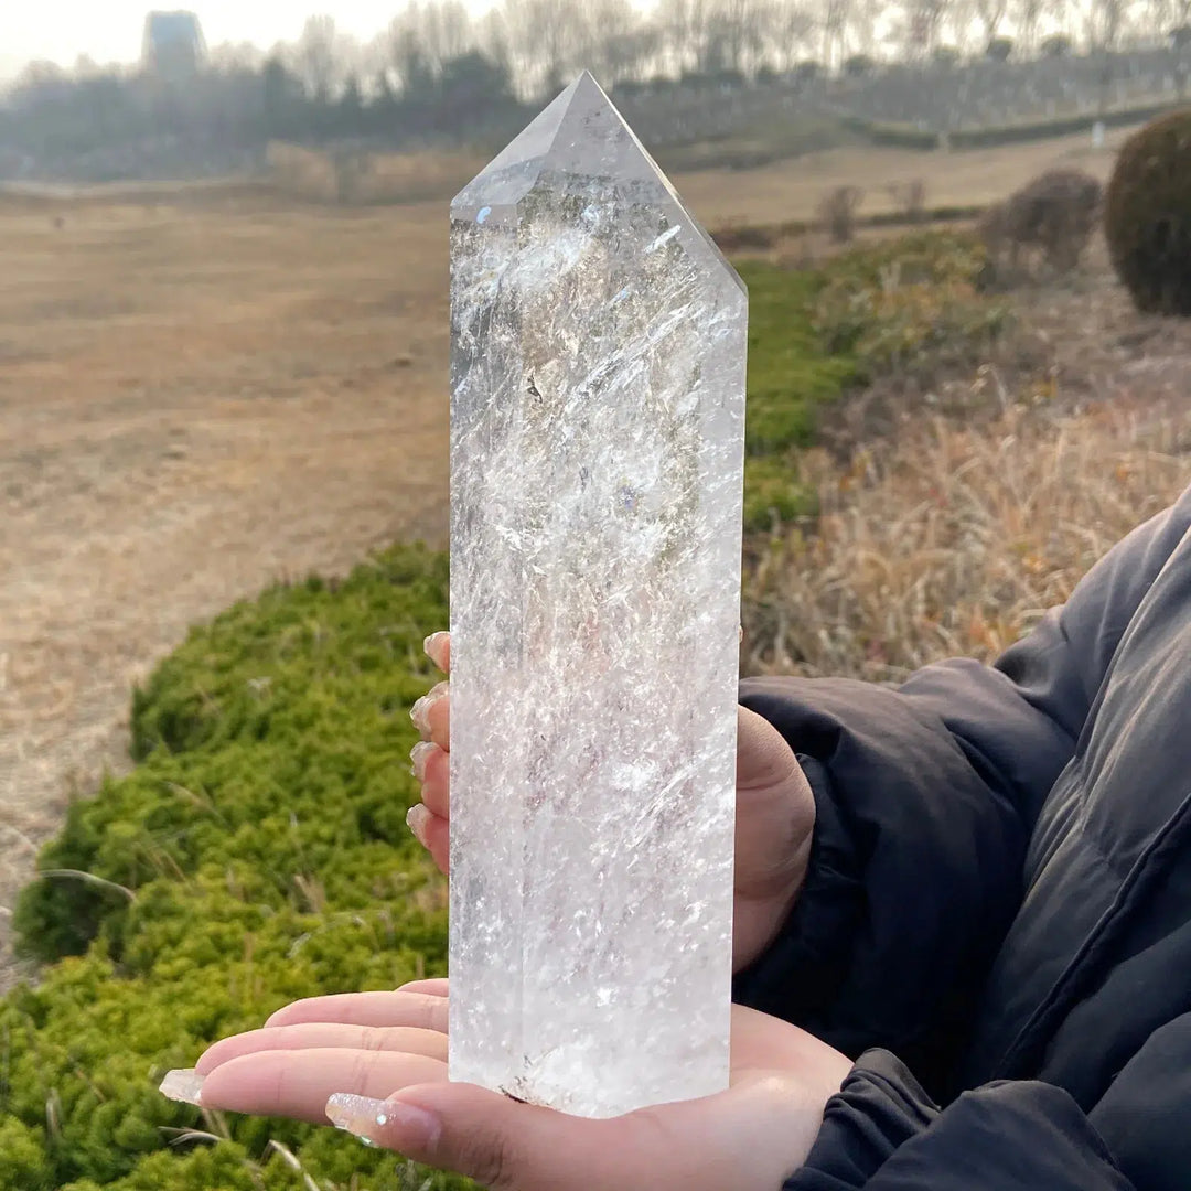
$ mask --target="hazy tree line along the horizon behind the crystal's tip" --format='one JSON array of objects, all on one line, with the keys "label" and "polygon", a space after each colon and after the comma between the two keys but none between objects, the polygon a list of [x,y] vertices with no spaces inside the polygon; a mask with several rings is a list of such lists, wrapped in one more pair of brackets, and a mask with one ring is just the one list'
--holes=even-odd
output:
[{"label": "hazy tree line along the horizon behind the crystal's tip", "polygon": [[[880,60],[1109,54],[1189,40],[1191,0],[461,0],[413,2],[368,43],[311,17],[269,52],[216,46],[168,80],[33,63],[0,106],[0,146],[68,155],[145,137],[485,141],[580,69],[623,89],[856,74]],[[1006,36],[1011,35],[1011,36]]]}]

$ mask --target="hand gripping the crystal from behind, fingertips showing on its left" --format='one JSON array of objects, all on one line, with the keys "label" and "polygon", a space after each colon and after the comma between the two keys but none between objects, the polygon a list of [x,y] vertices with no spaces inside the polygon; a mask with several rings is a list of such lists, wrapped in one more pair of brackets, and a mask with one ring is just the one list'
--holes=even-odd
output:
[{"label": "hand gripping the crystal from behind, fingertips showing on its left", "polygon": [[[426,637],[426,653],[450,674],[450,634]],[[448,869],[450,836],[450,686],[443,681],[411,711],[422,741],[413,773],[422,802],[410,830]],[[737,709],[736,865],[732,968],[748,967],[773,942],[806,877],[815,798],[793,750],[767,719]]]}]

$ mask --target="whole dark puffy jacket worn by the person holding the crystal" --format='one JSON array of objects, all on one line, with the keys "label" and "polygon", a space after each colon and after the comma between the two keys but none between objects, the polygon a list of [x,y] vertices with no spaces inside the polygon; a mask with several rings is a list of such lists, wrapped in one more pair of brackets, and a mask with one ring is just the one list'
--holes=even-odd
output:
[{"label": "whole dark puffy jacket worn by the person holding the crystal", "polygon": [[1191,1189],[1191,490],[993,667],[741,701],[818,818],[736,999],[859,1056],[788,1191]]}]

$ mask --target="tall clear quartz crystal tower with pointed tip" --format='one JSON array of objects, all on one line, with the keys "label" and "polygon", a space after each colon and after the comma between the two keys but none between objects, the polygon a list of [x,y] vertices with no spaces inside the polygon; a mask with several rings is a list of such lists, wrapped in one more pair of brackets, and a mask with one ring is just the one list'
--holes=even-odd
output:
[{"label": "tall clear quartz crystal tower with pointed tip", "polygon": [[747,316],[590,75],[451,205],[453,1079],[728,1086]]}]

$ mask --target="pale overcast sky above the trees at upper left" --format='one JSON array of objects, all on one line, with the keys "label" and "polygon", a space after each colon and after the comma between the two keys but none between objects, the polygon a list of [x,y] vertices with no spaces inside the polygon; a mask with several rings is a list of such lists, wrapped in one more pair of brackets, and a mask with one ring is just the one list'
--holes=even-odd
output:
[{"label": "pale overcast sky above the trees at upper left", "polygon": [[[467,0],[484,12],[485,0]],[[0,76],[26,62],[48,58],[73,66],[81,54],[96,62],[129,62],[141,55],[141,35],[150,7],[193,8],[208,45],[255,42],[268,49],[293,40],[306,18],[328,12],[345,33],[360,38],[380,32],[405,0],[0,0]]]}]

